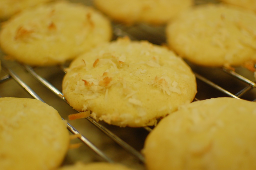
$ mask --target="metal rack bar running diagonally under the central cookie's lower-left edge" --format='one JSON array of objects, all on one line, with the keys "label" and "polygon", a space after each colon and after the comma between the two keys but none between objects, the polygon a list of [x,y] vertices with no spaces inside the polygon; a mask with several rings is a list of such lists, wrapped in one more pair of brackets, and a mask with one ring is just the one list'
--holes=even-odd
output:
[{"label": "metal rack bar running diagonally under the central cookie's lower-left edge", "polygon": [[[38,80],[41,84],[43,84],[45,87],[47,87],[48,89],[50,89],[52,92],[54,92],[58,97],[60,97],[61,99],[63,99],[67,104],[68,102],[65,100],[65,98],[63,97],[63,94],[56,89],[51,83],[49,83],[47,80],[45,80],[44,78],[42,78],[41,76],[39,76],[35,70],[30,67],[30,66],[24,66],[24,68],[36,79]],[[79,111],[77,111],[79,112]],[[122,148],[124,148],[127,152],[131,153],[132,155],[134,155],[135,157],[137,157],[141,162],[145,162],[144,157],[142,156],[142,154],[140,152],[138,152],[136,149],[134,149],[132,146],[130,146],[129,144],[127,144],[125,141],[123,141],[122,139],[120,139],[118,136],[116,136],[114,133],[112,133],[110,130],[108,130],[107,128],[105,128],[104,126],[102,126],[101,124],[99,124],[98,122],[96,122],[94,119],[88,117],[86,118],[87,120],[89,120],[93,125],[95,125],[97,128],[99,128],[102,132],[104,132],[106,135],[108,135],[112,140],[114,140],[116,143],[118,143]]]}]

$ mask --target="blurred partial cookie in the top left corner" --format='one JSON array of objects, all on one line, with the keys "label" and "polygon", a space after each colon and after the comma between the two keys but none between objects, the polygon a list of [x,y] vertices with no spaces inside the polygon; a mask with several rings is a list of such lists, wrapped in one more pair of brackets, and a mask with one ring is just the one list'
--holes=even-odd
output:
[{"label": "blurred partial cookie in the top left corner", "polygon": [[38,4],[49,2],[51,0],[1,0],[0,1],[0,19],[6,19],[10,16],[24,10],[26,8],[34,7]]}]

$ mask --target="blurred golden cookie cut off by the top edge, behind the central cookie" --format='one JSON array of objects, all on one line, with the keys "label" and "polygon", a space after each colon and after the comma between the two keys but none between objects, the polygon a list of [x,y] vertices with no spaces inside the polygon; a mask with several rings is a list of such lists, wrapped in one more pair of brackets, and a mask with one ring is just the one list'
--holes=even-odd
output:
[{"label": "blurred golden cookie cut off by the top edge, behind the central cookie", "polygon": [[191,0],[94,0],[94,5],[118,22],[126,24],[165,24],[180,11],[193,5]]}]

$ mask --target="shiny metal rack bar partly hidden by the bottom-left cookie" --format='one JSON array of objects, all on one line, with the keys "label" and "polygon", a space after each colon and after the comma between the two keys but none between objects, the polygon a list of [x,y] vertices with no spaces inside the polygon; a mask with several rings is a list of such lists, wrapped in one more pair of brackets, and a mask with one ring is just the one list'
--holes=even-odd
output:
[{"label": "shiny metal rack bar partly hidden by the bottom-left cookie", "polygon": [[[33,96],[35,99],[40,100],[44,102],[22,79],[19,78],[19,76],[13,72],[11,69],[6,67],[3,63],[2,66],[7,70],[9,75],[14,78],[20,86],[22,86],[31,96]],[[62,118],[63,119],[63,118]],[[64,120],[64,119],[63,119]],[[73,134],[80,134],[73,126],[71,126],[69,123],[67,123],[67,129],[73,133]],[[105,161],[113,162],[108,156],[106,156],[99,148],[97,148],[95,145],[92,144],[86,137],[83,135],[79,135],[78,138],[86,145],[88,145],[95,153],[97,153],[101,158],[103,158]]]}]

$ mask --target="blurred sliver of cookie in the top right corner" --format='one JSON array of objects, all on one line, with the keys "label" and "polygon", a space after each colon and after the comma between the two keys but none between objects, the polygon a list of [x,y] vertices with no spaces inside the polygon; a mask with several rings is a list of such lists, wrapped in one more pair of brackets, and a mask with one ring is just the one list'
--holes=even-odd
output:
[{"label": "blurred sliver of cookie in the top right corner", "polygon": [[246,9],[250,9],[256,12],[256,1],[255,0],[221,0],[227,4],[240,6]]}]

